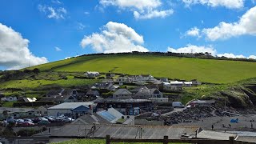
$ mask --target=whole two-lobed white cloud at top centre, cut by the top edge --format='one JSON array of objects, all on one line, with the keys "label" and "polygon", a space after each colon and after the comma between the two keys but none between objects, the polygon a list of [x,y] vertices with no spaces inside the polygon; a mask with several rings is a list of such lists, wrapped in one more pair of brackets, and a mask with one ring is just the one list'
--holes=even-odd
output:
[{"label": "whole two-lobed white cloud at top centre, cut by the top edge", "polygon": [[121,10],[134,12],[136,19],[166,18],[174,13],[174,10],[158,10],[162,6],[160,0],[100,0],[100,4],[106,6],[117,6]]}]

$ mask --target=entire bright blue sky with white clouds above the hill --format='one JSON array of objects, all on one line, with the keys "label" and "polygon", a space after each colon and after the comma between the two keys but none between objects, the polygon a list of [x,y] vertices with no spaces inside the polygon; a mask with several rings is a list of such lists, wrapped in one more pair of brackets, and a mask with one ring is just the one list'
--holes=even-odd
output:
[{"label": "entire bright blue sky with white clouds above the hill", "polygon": [[[0,68],[131,50],[256,58],[254,0],[2,0]],[[1,40],[2,39],[2,40]]]}]

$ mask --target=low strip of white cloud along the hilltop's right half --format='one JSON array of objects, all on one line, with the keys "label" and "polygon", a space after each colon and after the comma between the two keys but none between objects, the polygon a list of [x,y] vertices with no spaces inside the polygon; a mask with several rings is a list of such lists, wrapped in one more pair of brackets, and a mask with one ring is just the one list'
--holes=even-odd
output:
[{"label": "low strip of white cloud along the hilltop's right half", "polygon": [[[213,46],[194,46],[194,45],[187,45],[185,47],[180,47],[178,49],[174,49],[172,47],[168,47],[167,49],[169,52],[172,53],[209,53],[214,57],[226,57],[226,58],[246,58],[244,55],[242,54],[231,54],[231,53],[224,53],[224,54],[218,54],[217,50],[214,49]],[[256,59],[255,55],[250,55],[248,57],[249,59]]]}]

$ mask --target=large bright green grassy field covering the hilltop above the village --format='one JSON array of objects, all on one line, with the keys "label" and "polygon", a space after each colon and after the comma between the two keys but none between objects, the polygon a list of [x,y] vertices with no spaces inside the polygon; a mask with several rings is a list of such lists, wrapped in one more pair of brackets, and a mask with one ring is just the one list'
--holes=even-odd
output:
[{"label": "large bright green grassy field covering the hilltop above the village", "polygon": [[152,74],[154,77],[198,79],[202,82],[230,83],[256,77],[256,62],[179,58],[157,55],[108,54],[87,55],[34,66],[40,70],[65,72],[114,72],[120,74]]}]

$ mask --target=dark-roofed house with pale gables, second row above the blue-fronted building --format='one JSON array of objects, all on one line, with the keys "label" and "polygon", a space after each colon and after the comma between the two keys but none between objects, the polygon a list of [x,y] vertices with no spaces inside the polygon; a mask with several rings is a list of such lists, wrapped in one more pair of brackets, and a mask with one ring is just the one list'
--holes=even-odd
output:
[{"label": "dark-roofed house with pale gables, second row above the blue-fronted building", "polygon": [[74,98],[77,98],[78,91],[76,89],[49,90],[46,97],[55,97],[56,95],[72,95]]}]

